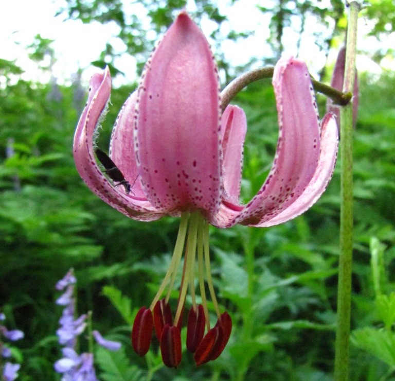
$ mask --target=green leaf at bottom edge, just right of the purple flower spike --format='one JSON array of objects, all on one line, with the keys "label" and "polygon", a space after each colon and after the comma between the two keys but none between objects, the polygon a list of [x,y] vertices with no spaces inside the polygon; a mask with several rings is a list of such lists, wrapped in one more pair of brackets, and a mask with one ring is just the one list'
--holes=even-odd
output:
[{"label": "green leaf at bottom edge, just right of the purple flower spike", "polygon": [[124,348],[119,351],[108,351],[100,346],[96,347],[95,361],[103,381],[134,381],[142,379],[142,371],[136,366],[131,366]]}]

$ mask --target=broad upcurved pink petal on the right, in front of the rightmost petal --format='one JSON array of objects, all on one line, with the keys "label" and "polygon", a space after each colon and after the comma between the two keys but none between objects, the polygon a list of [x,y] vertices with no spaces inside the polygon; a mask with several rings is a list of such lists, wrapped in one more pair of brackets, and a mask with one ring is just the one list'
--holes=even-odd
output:
[{"label": "broad upcurved pink petal on the right, in front of the rightmost petal", "polygon": [[264,226],[300,197],[316,171],[320,131],[306,64],[294,58],[280,59],[273,85],[279,139],[272,169],[258,194],[230,225]]}]

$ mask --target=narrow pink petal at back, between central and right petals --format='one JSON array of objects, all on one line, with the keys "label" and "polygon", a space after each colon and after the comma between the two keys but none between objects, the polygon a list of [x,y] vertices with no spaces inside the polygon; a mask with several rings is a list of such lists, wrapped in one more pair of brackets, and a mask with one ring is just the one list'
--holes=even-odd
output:
[{"label": "narrow pink petal at back, between central and right petals", "polygon": [[247,119],[237,106],[228,106],[222,115],[223,184],[222,202],[239,204],[243,148]]}]

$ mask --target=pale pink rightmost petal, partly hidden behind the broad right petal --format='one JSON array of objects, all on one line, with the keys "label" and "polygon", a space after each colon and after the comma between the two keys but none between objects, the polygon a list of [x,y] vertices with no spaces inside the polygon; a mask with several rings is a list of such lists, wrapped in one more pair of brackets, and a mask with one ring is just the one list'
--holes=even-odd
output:
[{"label": "pale pink rightmost petal, partly hidden behind the broad right petal", "polygon": [[336,164],[338,134],[335,118],[327,114],[321,122],[321,152],[313,178],[303,193],[288,208],[276,217],[259,224],[259,227],[268,227],[289,221],[306,212],[324,193],[332,178]]}]

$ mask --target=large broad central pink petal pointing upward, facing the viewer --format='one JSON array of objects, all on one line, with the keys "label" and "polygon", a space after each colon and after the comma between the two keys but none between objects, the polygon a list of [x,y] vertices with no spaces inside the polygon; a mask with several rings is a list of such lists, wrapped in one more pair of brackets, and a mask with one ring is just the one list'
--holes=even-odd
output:
[{"label": "large broad central pink petal pointing upward, facing the viewer", "polygon": [[138,90],[137,166],[157,210],[218,211],[219,97],[218,68],[208,42],[181,12],[149,59]]}]

